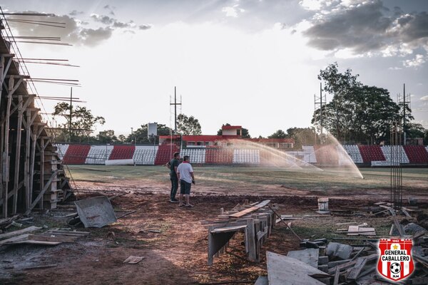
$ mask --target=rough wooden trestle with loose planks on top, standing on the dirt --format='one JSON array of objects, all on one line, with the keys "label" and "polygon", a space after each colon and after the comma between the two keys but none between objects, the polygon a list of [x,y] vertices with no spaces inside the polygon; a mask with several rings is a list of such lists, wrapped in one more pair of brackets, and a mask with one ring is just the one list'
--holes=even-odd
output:
[{"label": "rough wooden trestle with loose planks on top, standing on the dirt", "polygon": [[202,221],[208,228],[208,265],[213,264],[213,257],[227,252],[230,239],[238,232],[244,232],[245,253],[250,261],[260,261],[260,247],[270,236],[275,225],[275,214],[267,208],[270,200],[260,203],[237,205],[210,221]]}]

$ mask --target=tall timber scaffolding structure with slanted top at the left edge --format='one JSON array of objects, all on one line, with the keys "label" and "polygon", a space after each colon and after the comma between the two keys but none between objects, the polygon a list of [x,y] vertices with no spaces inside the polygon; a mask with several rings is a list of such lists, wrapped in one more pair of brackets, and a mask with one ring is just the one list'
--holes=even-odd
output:
[{"label": "tall timber scaffolding structure with slanted top at the left edge", "polygon": [[[1,8],[0,8],[1,10]],[[0,217],[54,209],[72,194],[35,100],[39,99],[11,33],[0,14]]]}]

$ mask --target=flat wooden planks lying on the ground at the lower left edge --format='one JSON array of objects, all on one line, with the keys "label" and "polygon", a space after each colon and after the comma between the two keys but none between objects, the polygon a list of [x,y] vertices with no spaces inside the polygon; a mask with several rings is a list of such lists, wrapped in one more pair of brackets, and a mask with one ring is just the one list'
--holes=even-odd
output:
[{"label": "flat wooden planks lying on the ground at the lower left edge", "polygon": [[14,232],[0,234],[0,246],[8,244],[44,244],[57,245],[63,242],[76,242],[81,237],[86,237],[89,232],[65,231],[59,229],[50,229],[49,231],[33,234],[41,227],[27,227]]}]

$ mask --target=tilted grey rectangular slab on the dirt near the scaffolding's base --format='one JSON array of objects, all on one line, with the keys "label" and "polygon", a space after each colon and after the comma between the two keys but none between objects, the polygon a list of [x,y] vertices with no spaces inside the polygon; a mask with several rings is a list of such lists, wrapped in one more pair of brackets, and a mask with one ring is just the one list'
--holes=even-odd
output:
[{"label": "tilted grey rectangular slab on the dirt near the scaffolding's base", "polygon": [[117,220],[107,196],[88,198],[74,204],[85,227],[104,227]]}]

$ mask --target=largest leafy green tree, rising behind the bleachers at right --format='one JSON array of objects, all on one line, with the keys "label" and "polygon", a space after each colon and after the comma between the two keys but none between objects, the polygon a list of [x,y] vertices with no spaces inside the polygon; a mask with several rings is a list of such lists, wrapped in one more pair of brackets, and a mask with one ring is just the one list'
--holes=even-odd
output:
[{"label": "largest leafy green tree, rising behind the bleachers at right", "polygon": [[312,124],[320,127],[322,114],[323,128],[337,140],[388,141],[392,123],[399,120],[399,105],[391,99],[388,90],[365,86],[357,78],[349,68],[340,73],[337,63],[320,71],[318,79],[324,81],[324,91],[333,98],[322,109],[315,110]]}]

